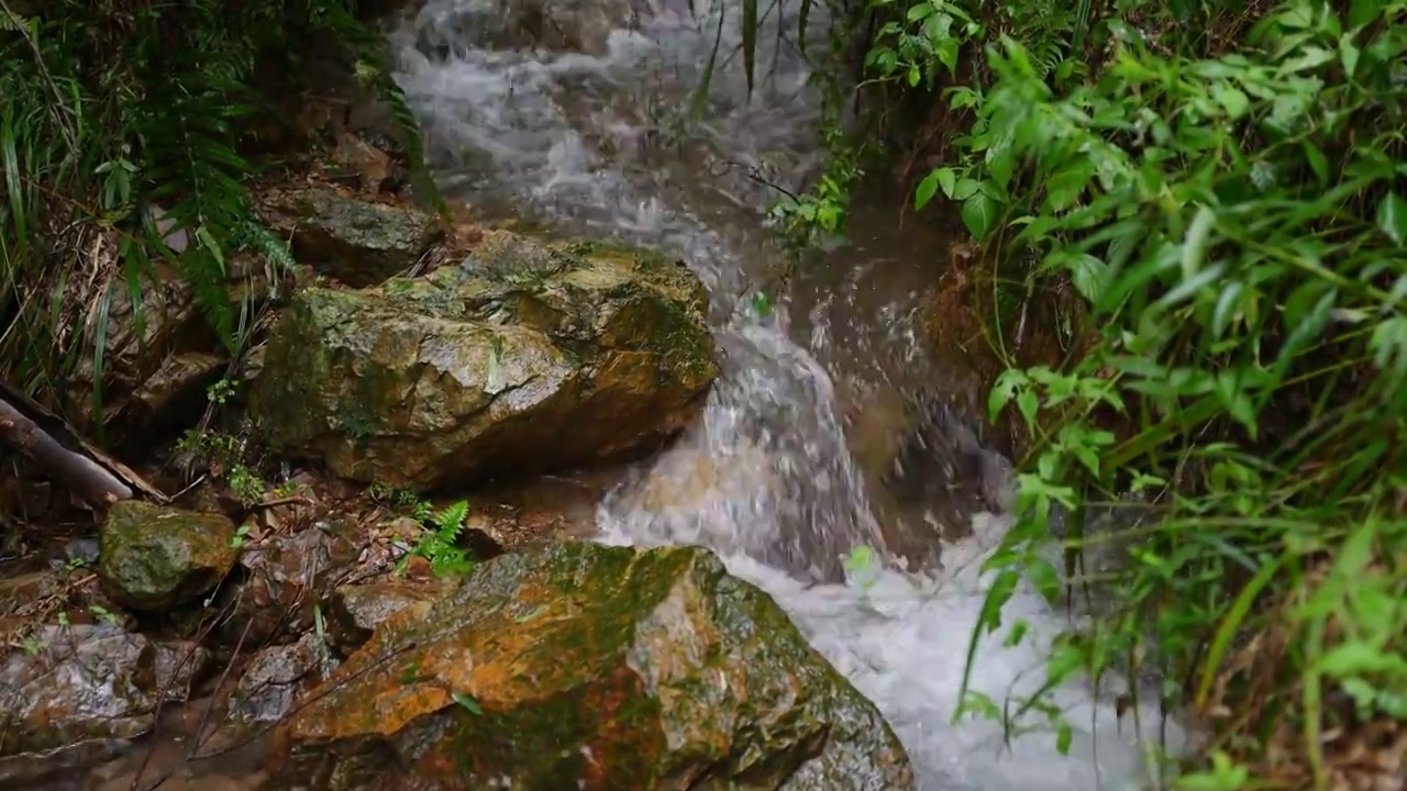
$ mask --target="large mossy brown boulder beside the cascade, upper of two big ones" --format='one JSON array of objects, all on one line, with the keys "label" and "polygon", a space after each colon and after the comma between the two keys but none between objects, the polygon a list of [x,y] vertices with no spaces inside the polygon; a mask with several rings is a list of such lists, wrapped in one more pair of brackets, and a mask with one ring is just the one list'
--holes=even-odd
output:
[{"label": "large mossy brown boulder beside the cascade, upper of two big ones", "polygon": [[626,459],[718,376],[704,307],[663,258],[494,231],[460,267],[301,291],[250,414],[279,453],[421,491]]}]

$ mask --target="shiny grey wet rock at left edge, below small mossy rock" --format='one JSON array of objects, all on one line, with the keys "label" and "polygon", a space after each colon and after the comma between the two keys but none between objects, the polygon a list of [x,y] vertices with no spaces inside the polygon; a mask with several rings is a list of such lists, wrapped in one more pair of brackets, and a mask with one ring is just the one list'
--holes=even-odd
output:
[{"label": "shiny grey wet rock at left edge, below small mossy rock", "polygon": [[152,725],[156,650],[108,625],[41,626],[0,657],[0,756],[132,739]]}]

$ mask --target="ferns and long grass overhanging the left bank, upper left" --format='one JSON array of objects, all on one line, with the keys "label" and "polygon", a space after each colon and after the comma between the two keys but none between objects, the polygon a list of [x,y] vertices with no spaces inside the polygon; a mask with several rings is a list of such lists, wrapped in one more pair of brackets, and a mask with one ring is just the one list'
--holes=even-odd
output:
[{"label": "ferns and long grass overhanging the left bank, upper left", "polygon": [[[239,348],[249,317],[229,297],[232,262],[248,251],[270,280],[291,263],[248,194],[259,169],[241,142],[270,107],[256,77],[295,73],[321,34],[414,129],[356,11],[356,0],[0,3],[0,377],[70,411],[66,383],[84,366],[100,401],[114,301],[131,294],[141,327],[159,270],[189,283]],[[418,135],[402,137],[418,163]]]}]

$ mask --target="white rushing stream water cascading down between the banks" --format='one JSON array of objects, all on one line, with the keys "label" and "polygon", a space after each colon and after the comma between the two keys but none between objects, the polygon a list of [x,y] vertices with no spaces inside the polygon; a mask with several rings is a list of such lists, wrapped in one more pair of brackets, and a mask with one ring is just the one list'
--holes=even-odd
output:
[{"label": "white rushing stream water cascading down between the banks", "polygon": [[[667,251],[711,293],[725,373],[699,425],[604,500],[601,540],[713,548],[879,707],[926,791],[1148,787],[1158,715],[1116,718],[1113,681],[1097,697],[1085,683],[1054,692],[1075,726],[1067,756],[1036,719],[1014,736],[954,722],[985,591],[978,567],[1009,515],[975,515],[938,570],[851,564],[834,581],[853,548],[889,546],[931,515],[882,507],[844,411],[875,414],[879,394],[944,376],[923,362],[915,322],[923,279],[944,258],[926,231],[898,228],[896,196],[860,211],[851,243],[802,266],[770,305],[756,298],[784,260],[768,203],[825,165],[822,104],[785,3],[764,8],[749,90],[732,1],[428,0],[393,32],[397,79],[450,198],[485,221]],[[808,52],[825,52],[813,17]],[[1000,479],[1003,467],[983,470]],[[1040,687],[1064,616],[1017,591],[1005,622],[1024,619],[1029,636],[1009,649],[1002,631],[988,638],[972,688],[1000,702]]]}]

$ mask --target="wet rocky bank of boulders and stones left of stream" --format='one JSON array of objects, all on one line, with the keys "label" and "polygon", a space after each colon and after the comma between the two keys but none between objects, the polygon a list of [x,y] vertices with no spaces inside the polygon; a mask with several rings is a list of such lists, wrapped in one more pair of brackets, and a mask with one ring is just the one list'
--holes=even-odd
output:
[{"label": "wet rocky bank of boulders and stones left of stream", "polygon": [[[604,49],[626,6],[535,35]],[[294,141],[256,193],[297,265],[231,262],[242,346],[174,277],[141,310],[108,284],[104,414],[77,428],[101,417],[163,495],[94,514],[28,473],[0,484],[0,785],[915,788],[891,725],[772,595],[709,549],[590,540],[628,464],[718,384],[699,276],[425,208],[384,108],[336,91],[352,100],[300,101],[293,134],[252,142]],[[991,477],[946,407],[846,403],[843,452],[896,497]],[[702,514],[718,464],[633,497]],[[884,543],[937,566],[1002,497],[969,486],[943,525]],[[758,555],[834,583],[830,538]]]}]

